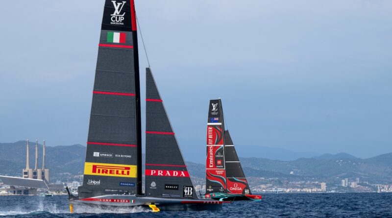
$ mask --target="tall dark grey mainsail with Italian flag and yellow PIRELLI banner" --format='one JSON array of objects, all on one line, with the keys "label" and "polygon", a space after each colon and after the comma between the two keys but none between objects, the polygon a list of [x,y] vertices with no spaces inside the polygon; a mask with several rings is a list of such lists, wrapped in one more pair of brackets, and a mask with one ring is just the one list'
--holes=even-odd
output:
[{"label": "tall dark grey mainsail with Italian flag and yellow PIRELLI banner", "polygon": [[79,197],[142,194],[138,63],[133,0],[106,0]]}]

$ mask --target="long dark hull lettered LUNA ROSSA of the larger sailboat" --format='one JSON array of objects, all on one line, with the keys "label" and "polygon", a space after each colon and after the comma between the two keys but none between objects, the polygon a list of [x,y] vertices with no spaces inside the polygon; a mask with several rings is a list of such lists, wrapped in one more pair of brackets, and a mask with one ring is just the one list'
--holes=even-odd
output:
[{"label": "long dark hull lettered LUNA ROSSA of the larger sailboat", "polygon": [[104,209],[146,207],[155,205],[160,211],[202,211],[221,210],[222,203],[228,201],[217,201],[212,199],[172,199],[161,197],[143,197],[136,195],[101,195],[81,199],[69,200],[73,205],[84,205]]}]

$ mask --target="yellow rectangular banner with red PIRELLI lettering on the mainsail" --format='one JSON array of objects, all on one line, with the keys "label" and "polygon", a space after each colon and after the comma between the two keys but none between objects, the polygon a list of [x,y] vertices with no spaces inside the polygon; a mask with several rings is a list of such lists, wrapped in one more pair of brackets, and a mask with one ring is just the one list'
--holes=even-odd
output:
[{"label": "yellow rectangular banner with red PIRELLI lettering on the mainsail", "polygon": [[85,175],[136,178],[136,165],[84,163]]}]

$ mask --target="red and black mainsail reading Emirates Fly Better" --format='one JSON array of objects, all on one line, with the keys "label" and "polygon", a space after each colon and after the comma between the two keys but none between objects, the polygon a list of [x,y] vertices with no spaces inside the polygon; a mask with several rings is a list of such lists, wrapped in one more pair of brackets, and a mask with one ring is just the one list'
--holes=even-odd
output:
[{"label": "red and black mainsail reading Emirates Fly Better", "polygon": [[221,99],[210,100],[207,121],[206,194],[226,192]]}]

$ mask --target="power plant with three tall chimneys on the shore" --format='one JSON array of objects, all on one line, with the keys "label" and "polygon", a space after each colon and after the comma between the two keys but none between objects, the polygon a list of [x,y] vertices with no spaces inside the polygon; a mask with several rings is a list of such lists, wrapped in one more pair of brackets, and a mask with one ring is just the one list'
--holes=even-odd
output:
[{"label": "power plant with three tall chimneys on the shore", "polygon": [[38,169],[38,140],[35,141],[35,167],[30,169],[29,151],[28,151],[28,139],[26,145],[26,169],[23,169],[23,178],[26,179],[40,179],[44,180],[46,184],[49,184],[49,169],[45,169],[45,140],[43,147],[43,159],[42,169]]}]

